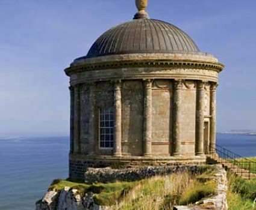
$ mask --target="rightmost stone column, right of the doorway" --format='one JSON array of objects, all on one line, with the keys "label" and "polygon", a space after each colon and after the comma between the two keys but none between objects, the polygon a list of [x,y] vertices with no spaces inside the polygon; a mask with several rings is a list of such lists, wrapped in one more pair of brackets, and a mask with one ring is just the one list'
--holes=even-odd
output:
[{"label": "rightmost stone column, right of the doorway", "polygon": [[210,153],[214,152],[216,145],[216,83],[211,83],[210,89]]}]

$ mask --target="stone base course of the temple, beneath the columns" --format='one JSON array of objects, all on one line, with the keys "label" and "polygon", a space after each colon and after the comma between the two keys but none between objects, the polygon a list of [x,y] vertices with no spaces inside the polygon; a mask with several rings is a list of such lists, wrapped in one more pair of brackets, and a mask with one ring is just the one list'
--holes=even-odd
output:
[{"label": "stone base course of the temple, beneath the columns", "polygon": [[198,165],[205,164],[205,155],[191,155],[178,157],[174,156],[122,156],[111,155],[69,155],[69,178],[84,179],[84,172],[89,167],[103,168],[112,167],[114,169],[125,169],[131,167],[148,166],[179,166],[179,165]]}]

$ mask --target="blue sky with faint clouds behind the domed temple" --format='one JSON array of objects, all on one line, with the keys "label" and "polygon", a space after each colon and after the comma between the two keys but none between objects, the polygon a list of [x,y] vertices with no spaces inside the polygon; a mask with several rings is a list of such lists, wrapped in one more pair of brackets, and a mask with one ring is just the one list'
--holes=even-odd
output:
[{"label": "blue sky with faint clouds behind the domed temple", "polygon": [[[218,131],[256,130],[255,8],[254,0],[149,0],[151,18],[183,29],[226,65]],[[1,0],[0,136],[68,135],[64,68],[135,13],[133,0]]]}]

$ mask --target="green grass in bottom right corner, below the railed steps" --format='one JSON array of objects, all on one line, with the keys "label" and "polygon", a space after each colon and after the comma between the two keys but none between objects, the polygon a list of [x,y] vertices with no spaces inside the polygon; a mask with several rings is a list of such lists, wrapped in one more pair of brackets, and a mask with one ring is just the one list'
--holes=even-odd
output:
[{"label": "green grass in bottom right corner, below the railed steps", "polygon": [[256,179],[248,181],[229,174],[228,182],[228,209],[256,210]]}]

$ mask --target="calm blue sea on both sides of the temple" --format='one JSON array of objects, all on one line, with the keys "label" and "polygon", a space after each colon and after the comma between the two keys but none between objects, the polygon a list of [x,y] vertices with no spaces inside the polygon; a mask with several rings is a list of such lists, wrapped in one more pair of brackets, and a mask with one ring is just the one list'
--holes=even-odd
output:
[{"label": "calm blue sea on both sides of the temple", "polygon": [[[217,144],[256,157],[256,136],[217,134]],[[69,137],[0,138],[0,210],[34,210],[53,179],[68,176]]]}]

